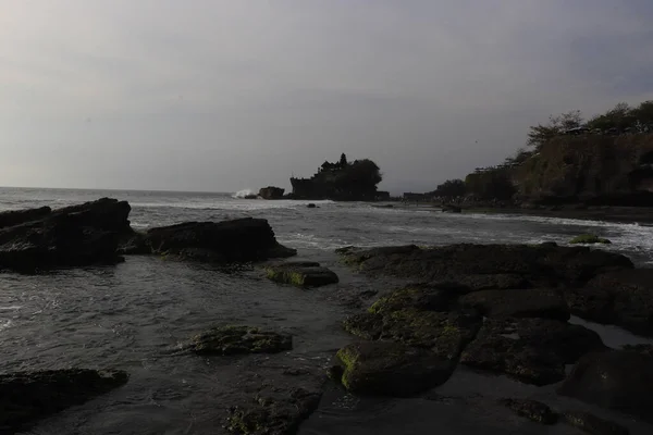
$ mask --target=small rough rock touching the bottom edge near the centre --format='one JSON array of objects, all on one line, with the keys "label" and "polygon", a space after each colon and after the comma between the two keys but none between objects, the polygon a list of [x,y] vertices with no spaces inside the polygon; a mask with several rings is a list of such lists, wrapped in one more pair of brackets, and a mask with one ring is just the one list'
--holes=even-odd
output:
[{"label": "small rough rock touching the bottom edge near the centre", "polygon": [[258,395],[230,410],[226,430],[243,435],[293,435],[320,405],[321,393],[304,388]]}]

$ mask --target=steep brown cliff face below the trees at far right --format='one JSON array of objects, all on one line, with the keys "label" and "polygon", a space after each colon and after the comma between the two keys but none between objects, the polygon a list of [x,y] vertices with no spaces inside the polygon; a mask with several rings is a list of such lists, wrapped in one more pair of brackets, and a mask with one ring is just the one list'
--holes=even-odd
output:
[{"label": "steep brown cliff face below the trees at far right", "polygon": [[558,136],[510,177],[537,202],[653,206],[653,134]]}]

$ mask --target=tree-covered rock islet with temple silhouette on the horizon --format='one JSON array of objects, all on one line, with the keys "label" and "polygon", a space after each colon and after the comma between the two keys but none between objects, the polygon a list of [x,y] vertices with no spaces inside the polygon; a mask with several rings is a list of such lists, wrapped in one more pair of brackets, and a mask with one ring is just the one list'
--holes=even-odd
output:
[{"label": "tree-covered rock islet with temple silhouette on the horizon", "polygon": [[377,190],[381,179],[379,166],[371,160],[348,162],[346,156],[342,154],[338,162],[322,163],[318,173],[310,178],[291,178],[292,198],[341,201],[386,199],[385,192]]}]

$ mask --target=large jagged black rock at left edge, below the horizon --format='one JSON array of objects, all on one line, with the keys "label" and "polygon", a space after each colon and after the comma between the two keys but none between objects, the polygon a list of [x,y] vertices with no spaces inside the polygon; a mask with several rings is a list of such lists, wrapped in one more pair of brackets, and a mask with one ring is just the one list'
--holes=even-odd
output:
[{"label": "large jagged black rock at left edge, below the horizon", "polygon": [[3,214],[0,228],[0,268],[19,272],[60,266],[115,263],[119,243],[132,233],[131,207],[102,198],[49,211]]}]

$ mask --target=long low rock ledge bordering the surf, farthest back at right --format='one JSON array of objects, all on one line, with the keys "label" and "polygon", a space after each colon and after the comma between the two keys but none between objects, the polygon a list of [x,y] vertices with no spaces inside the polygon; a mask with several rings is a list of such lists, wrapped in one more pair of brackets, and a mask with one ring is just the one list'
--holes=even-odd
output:
[{"label": "long low rock ledge bordering the surf, farthest back at right", "polygon": [[[415,245],[372,249],[343,248],[344,261],[368,274],[420,282],[461,282],[468,276],[512,276],[529,287],[578,286],[613,270],[632,269],[620,254],[587,247],[531,245]],[[497,287],[491,287],[497,288]],[[519,288],[519,287],[518,287]],[[523,287],[521,287],[523,288]]]}]

